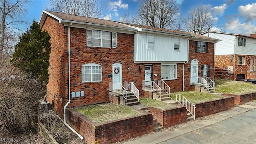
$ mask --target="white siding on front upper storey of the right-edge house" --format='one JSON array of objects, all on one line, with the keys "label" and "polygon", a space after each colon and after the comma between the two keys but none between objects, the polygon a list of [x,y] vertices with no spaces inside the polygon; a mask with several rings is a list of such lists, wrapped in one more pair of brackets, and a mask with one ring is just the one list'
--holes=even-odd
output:
[{"label": "white siding on front upper storey of the right-edge house", "polygon": [[236,53],[239,55],[254,55],[256,56],[256,39],[246,38],[245,46],[238,46],[238,38],[236,38]]}]

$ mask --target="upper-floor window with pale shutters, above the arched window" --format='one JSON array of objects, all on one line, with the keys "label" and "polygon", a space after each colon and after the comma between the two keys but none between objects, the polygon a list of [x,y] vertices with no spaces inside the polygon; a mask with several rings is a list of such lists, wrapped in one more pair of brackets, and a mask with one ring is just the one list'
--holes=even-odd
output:
[{"label": "upper-floor window with pale shutters, above the arched window", "polygon": [[102,48],[116,48],[116,32],[107,32],[102,30],[86,30],[86,45]]}]

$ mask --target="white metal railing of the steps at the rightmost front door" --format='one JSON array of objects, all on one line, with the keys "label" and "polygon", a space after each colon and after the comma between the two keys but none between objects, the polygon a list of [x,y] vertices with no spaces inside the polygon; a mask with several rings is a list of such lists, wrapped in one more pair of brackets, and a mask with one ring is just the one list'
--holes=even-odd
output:
[{"label": "white metal railing of the steps at the rightmost front door", "polygon": [[190,77],[190,84],[201,84],[207,89],[212,88],[215,91],[215,82],[206,76]]}]

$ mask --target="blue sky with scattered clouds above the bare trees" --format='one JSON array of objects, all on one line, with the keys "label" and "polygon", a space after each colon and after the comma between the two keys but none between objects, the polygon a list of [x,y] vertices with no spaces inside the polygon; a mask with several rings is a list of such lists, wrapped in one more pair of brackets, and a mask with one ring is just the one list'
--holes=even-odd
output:
[{"label": "blue sky with scattered clouds above the bare trees", "polygon": [[[102,19],[120,21],[123,13],[136,14],[140,0],[100,0],[104,6]],[[225,25],[230,33],[249,35],[256,32],[256,0],[176,0],[179,14],[185,17],[188,11],[204,6],[211,12],[214,27]],[[30,24],[40,20],[42,11],[48,5],[47,0],[33,0],[24,16]],[[26,26],[29,28],[29,26]]]}]

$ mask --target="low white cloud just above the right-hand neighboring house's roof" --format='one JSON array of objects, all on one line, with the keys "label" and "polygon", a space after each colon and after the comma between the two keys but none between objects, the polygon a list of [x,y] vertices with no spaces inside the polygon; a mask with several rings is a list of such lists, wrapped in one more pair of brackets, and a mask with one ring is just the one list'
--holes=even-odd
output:
[{"label": "low white cloud just above the right-hand neighboring house's roof", "polygon": [[236,34],[250,35],[256,31],[256,25],[248,23],[242,23],[238,19],[233,19],[226,23],[227,31]]}]

